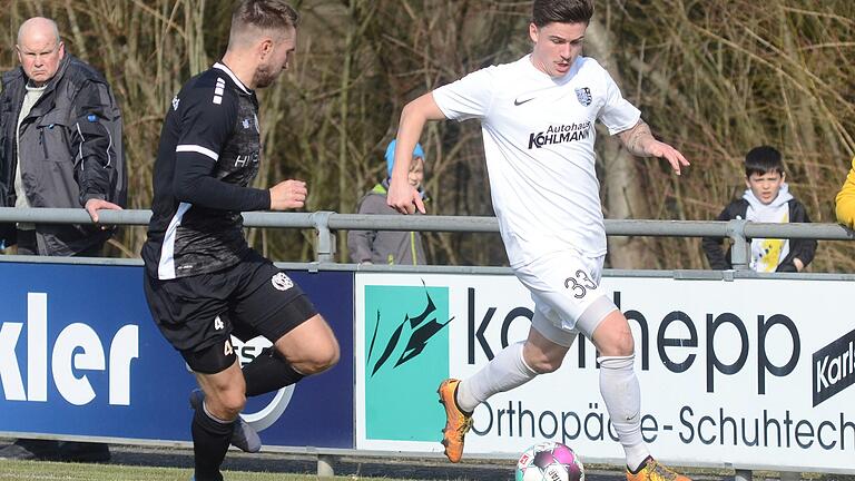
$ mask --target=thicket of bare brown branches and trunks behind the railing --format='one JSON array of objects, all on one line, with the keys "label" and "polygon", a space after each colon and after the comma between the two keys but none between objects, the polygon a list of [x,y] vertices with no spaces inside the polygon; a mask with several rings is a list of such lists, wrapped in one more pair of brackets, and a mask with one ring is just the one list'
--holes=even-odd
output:
[{"label": "thicket of bare brown branches and trunks behind the railing", "polygon": [[[383,149],[409,100],[531,49],[531,3],[514,0],[305,0],[296,62],[259,91],[263,169],[257,186],[309,184],[308,210],[353,212],[385,171]],[[17,66],[26,18],[57,20],[75,55],[105,72],[125,116],[130,207],[151,203],[151,168],[169,100],[219,59],[224,2],[207,0],[9,0],[0,67]],[[638,106],[653,134],[692,161],[677,179],[657,159],[601,139],[598,170],[607,218],[710,219],[744,189],[741,159],[759,144],[780,149],[795,195],[833,220],[834,193],[855,153],[855,2],[849,0],[608,0],[597,3],[586,55]],[[603,136],[606,137],[606,136]],[[478,122],[432,124],[431,214],[490,215]],[[503,264],[497,235],[430,234],[432,261]],[[309,232],[253,229],[250,243],[279,259],[312,258]],[[111,245],[138,256],[145,228]],[[346,248],[340,239],[340,259]],[[697,239],[611,239],[620,267],[700,268]],[[812,268],[855,268],[851,243],[822,243]]]}]

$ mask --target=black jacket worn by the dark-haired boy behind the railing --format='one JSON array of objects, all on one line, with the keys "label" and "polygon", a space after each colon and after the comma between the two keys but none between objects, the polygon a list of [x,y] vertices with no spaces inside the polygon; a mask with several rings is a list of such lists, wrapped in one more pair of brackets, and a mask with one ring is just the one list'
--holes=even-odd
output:
[{"label": "black jacket worn by the dark-haired boy behind the railing", "polygon": [[[810,217],[807,215],[805,206],[795,198],[787,202],[789,206],[789,222],[792,223],[809,223]],[[733,220],[737,218],[746,218],[748,212],[748,200],[740,198],[731,202],[721,214],[718,215],[716,220]],[[750,240],[750,239],[749,239]],[[727,249],[727,254],[721,252],[723,238],[718,237],[704,237],[700,245],[704,247],[704,253],[707,255],[710,268],[717,271],[734,268],[730,264],[730,251]],[[778,268],[775,272],[796,272],[796,265],[793,259],[798,257],[802,263],[807,266],[814,259],[816,253],[816,240],[814,239],[789,239],[789,254],[778,264]]]}]

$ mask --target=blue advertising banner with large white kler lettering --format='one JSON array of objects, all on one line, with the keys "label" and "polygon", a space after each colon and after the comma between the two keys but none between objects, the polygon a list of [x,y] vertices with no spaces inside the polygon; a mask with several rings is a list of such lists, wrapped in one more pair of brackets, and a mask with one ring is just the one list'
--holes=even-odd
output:
[{"label": "blue advertising banner with large white kler lettering", "polygon": [[[341,361],[250,400],[245,418],[266,445],[353,448],[353,273],[288,275]],[[237,346],[242,361],[259,341]],[[195,386],[151,321],[141,266],[0,263],[0,432],[189,441]]]}]

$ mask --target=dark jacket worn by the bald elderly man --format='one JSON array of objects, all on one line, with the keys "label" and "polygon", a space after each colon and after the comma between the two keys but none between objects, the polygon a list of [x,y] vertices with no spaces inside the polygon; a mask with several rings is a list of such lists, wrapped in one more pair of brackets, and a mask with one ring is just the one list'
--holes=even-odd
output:
[{"label": "dark jacket worn by the bald elderly man", "polygon": [[[125,206],[127,175],[121,114],[107,80],[71,55],[16,127],[26,95],[22,68],[3,75],[0,95],[0,206],[27,195],[31,207],[80,208],[91,198]],[[18,151],[20,147],[20,153]],[[14,192],[18,157],[26,193]],[[3,228],[4,227],[4,228]],[[111,235],[92,225],[37,224],[39,254],[69,256],[104,244]],[[14,243],[14,226],[0,226],[0,242]]]}]

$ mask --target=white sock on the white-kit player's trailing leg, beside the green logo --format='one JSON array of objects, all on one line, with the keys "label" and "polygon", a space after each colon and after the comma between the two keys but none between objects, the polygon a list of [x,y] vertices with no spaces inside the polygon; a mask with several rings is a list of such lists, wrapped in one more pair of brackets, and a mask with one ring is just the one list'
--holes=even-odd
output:
[{"label": "white sock on the white-kit player's trailing leg, beside the green logo", "polygon": [[472,412],[495,393],[521,386],[538,375],[522,359],[523,342],[499,352],[481,371],[458,384],[458,406]]}]

